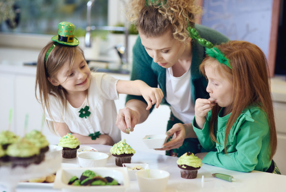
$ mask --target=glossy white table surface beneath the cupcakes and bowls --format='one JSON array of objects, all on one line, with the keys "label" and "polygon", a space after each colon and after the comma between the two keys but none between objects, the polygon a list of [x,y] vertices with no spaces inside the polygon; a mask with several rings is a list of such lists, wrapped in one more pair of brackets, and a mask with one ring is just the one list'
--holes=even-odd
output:
[{"label": "glossy white table surface beneath the cupcakes and bowls", "polygon": [[[109,153],[110,146],[106,145],[81,145],[92,146],[99,152]],[[260,171],[251,171],[249,173],[231,171],[220,167],[203,164],[198,170],[196,179],[183,179],[180,175],[180,168],[177,167],[178,157],[140,152],[137,151],[131,158],[131,163],[148,163],[150,169],[161,169],[170,173],[166,192],[185,192],[185,191],[286,191],[286,176]],[[78,164],[77,158],[64,159],[62,163]],[[115,158],[111,155],[108,158],[107,167],[115,167]],[[212,177],[213,173],[223,173],[234,177],[236,181],[228,182],[222,179]],[[204,176],[204,182],[201,178]],[[0,185],[0,191],[5,191],[4,186]],[[17,192],[56,192],[60,190],[51,187],[36,188],[31,186],[17,187]],[[6,191],[8,192],[8,191]],[[126,192],[139,192],[137,181],[130,181],[130,188]]]}]

